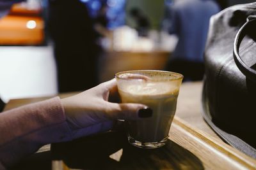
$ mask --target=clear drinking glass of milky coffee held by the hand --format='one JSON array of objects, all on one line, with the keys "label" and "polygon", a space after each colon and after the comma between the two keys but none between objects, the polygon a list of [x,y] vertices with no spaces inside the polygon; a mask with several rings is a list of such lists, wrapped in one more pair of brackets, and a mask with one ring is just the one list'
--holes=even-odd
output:
[{"label": "clear drinking glass of milky coffee held by the hand", "polygon": [[125,120],[128,141],[140,148],[165,145],[176,110],[182,74],[134,70],[116,73],[122,103],[141,103],[152,109],[150,118]]}]

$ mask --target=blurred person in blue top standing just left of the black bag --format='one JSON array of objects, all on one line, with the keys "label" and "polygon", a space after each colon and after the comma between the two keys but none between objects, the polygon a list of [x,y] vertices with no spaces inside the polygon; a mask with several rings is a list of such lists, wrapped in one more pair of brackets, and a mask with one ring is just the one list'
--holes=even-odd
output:
[{"label": "blurred person in blue top standing just left of the black bag", "polygon": [[165,69],[183,74],[184,81],[202,80],[209,20],[221,8],[214,0],[178,0],[167,10],[168,32],[179,40]]}]

